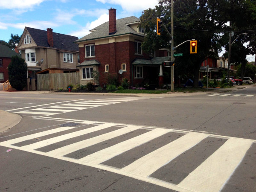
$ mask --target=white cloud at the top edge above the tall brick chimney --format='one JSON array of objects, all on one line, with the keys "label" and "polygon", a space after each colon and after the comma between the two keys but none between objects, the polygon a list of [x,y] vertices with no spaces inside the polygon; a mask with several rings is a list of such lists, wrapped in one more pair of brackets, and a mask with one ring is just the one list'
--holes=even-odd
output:
[{"label": "white cloud at the top edge above the tall brick chimney", "polygon": [[[158,5],[158,0],[96,0],[101,3],[109,3],[122,6],[126,12],[138,12]],[[113,7],[114,8],[114,7]]]}]

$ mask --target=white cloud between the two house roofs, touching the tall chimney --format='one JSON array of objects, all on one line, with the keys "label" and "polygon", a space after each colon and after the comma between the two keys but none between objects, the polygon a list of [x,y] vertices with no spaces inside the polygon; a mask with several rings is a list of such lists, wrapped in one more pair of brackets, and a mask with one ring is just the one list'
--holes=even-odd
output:
[{"label": "white cloud between the two house roofs, touching the tall chimney", "polygon": [[95,20],[91,23],[87,23],[85,25],[85,27],[81,27],[79,30],[73,31],[69,35],[73,35],[73,36],[76,36],[78,38],[84,37],[85,35],[88,35],[90,33],[91,29],[93,29],[96,26],[99,26],[102,23],[105,23],[107,21],[108,21],[108,14],[100,15],[100,17],[97,20]]}]

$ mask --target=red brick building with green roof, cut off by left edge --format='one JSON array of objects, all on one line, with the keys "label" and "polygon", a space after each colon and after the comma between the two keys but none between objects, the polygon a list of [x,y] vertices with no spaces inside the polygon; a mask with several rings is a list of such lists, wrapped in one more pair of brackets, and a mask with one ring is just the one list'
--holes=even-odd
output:
[{"label": "red brick building with green roof, cut off by left edge", "polygon": [[0,45],[0,83],[4,83],[9,79],[8,65],[11,62],[11,57],[15,55],[20,57],[20,55],[11,48],[6,45]]}]

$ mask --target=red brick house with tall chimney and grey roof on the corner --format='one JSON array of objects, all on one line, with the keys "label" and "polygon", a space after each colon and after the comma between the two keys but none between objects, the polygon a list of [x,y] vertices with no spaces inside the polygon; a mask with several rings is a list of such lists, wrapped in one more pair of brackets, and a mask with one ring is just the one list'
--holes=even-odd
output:
[{"label": "red brick house with tall chimney and grey roof on the corner", "polygon": [[[116,20],[116,9],[109,9],[109,21],[90,30],[75,41],[79,45],[80,84],[91,81],[93,70],[99,72],[99,86],[107,84],[108,76],[119,82],[127,78],[131,85],[155,84],[163,80],[162,62],[170,57],[154,58],[141,49],[144,31],[134,16]],[[120,74],[120,72],[122,74]],[[160,78],[159,78],[160,76]]]}]

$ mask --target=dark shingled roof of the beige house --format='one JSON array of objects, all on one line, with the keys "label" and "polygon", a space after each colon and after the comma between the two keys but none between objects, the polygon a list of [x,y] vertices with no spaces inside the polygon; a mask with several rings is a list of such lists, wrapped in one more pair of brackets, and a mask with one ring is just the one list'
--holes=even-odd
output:
[{"label": "dark shingled roof of the beige house", "polygon": [[[50,47],[47,40],[47,31],[41,29],[34,29],[25,27],[31,35],[32,39],[38,47]],[[64,49],[70,51],[79,51],[77,44],[74,44],[78,38],[71,35],[64,35],[61,33],[52,32],[53,35],[53,48]]]}]

